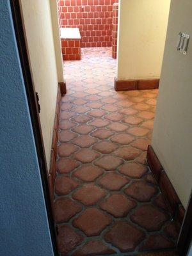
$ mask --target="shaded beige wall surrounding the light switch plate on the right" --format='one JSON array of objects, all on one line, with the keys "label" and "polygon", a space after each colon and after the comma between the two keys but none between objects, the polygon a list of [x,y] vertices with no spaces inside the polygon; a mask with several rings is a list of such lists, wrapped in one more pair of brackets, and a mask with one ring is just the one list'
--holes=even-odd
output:
[{"label": "shaded beige wall surrounding the light switch plate on the right", "polygon": [[192,187],[192,42],[177,51],[180,31],[192,36],[192,1],[172,0],[152,147],[184,207]]}]

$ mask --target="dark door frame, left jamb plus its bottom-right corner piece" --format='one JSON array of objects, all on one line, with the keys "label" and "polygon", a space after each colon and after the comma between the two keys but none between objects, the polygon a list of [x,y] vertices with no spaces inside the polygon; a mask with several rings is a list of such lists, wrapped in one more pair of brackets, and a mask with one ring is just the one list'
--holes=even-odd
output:
[{"label": "dark door frame, left jamb plus its bottom-right corner piece", "polygon": [[[29,62],[28,47],[26,44],[26,36],[24,33],[24,26],[22,15],[20,11],[20,0],[10,0],[12,9],[13,26],[17,39],[17,47],[19,50],[20,63],[22,67],[22,74],[24,77],[24,84],[26,87],[26,94],[28,97],[29,112],[31,115],[31,123],[33,126],[33,134],[35,138],[36,152],[38,156],[38,163],[40,167],[40,174],[42,179],[42,186],[44,189],[45,205],[47,210],[47,217],[49,221],[49,229],[51,233],[52,248],[54,255],[58,256],[58,248],[56,243],[56,228],[54,227],[54,218],[52,214],[51,197],[49,193],[49,182],[47,175],[47,163],[45,159],[44,141],[42,137],[42,129],[40,125],[40,116],[38,113],[38,103],[36,100],[35,86]],[[189,198],[189,204],[186,209],[184,221],[180,229],[179,239],[177,241],[177,250],[180,256],[186,256],[192,239],[192,194]]]}]

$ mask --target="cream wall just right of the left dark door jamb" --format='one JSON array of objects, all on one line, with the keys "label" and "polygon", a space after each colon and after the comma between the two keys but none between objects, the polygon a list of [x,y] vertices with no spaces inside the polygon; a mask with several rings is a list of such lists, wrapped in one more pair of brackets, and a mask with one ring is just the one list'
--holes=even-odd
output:
[{"label": "cream wall just right of the left dark door jamb", "polygon": [[49,0],[20,0],[28,41],[29,58],[40,98],[40,121],[49,168],[52,130],[58,89],[58,73]]}]

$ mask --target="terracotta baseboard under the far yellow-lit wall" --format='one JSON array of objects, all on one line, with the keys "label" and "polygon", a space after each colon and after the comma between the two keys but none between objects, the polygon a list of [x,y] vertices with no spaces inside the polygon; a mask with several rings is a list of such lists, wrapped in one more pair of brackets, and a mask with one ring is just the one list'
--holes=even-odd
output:
[{"label": "terracotta baseboard under the far yellow-lit wall", "polygon": [[151,90],[157,88],[159,88],[159,79],[117,80],[115,77],[116,91]]}]

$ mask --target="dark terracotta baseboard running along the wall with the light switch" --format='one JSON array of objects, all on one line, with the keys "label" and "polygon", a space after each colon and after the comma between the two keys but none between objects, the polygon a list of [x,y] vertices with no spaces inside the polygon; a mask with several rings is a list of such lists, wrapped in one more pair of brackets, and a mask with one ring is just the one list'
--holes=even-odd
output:
[{"label": "dark terracotta baseboard running along the wall with the light switch", "polygon": [[173,188],[172,182],[168,178],[168,175],[166,175],[166,171],[163,169],[156,153],[150,145],[147,149],[147,163],[156,178],[157,184],[159,185],[166,202],[168,203],[170,211],[173,214],[173,218],[181,225],[184,219],[185,209]]}]

